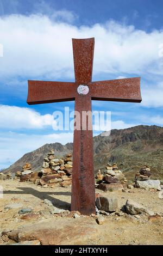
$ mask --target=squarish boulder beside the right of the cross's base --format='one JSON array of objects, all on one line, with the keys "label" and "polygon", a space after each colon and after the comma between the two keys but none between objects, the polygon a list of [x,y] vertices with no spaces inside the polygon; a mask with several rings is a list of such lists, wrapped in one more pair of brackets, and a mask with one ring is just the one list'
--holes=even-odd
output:
[{"label": "squarish boulder beside the right of the cross's base", "polygon": [[116,211],[118,207],[118,200],[115,197],[97,197],[96,206],[103,211]]}]

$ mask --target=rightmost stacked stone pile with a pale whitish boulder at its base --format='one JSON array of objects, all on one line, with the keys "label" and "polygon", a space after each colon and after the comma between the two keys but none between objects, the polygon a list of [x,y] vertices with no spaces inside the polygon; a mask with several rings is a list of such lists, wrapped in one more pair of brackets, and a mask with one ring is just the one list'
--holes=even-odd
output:
[{"label": "rightmost stacked stone pile with a pale whitish boulder at its base", "polygon": [[143,166],[135,175],[135,187],[161,190],[160,180],[151,180],[151,175],[152,173],[149,166]]}]

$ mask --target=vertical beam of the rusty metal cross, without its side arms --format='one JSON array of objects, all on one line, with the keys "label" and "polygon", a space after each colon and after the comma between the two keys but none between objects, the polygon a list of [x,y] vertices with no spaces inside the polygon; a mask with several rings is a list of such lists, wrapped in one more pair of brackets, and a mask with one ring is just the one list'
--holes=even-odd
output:
[{"label": "vertical beam of the rusty metal cross, without its side arms", "polygon": [[[73,39],[74,72],[77,87],[92,80],[94,38]],[[93,172],[92,114],[86,130],[83,130],[83,113],[92,113],[91,95],[79,95],[76,88],[75,111],[80,114],[80,130],[75,130],[73,139],[73,171],[71,210],[82,214],[95,214],[95,178]],[[75,121],[76,119],[74,119]],[[89,125],[89,127],[88,127]],[[89,129],[88,129],[89,128]]]}]

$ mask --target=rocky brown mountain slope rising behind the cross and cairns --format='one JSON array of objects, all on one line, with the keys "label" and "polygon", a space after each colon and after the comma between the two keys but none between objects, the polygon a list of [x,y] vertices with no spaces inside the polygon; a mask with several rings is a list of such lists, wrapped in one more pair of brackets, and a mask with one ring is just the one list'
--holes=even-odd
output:
[{"label": "rocky brown mountain slope rising behind the cross and cairns", "polygon": [[[151,167],[153,178],[163,179],[163,127],[134,126],[128,129],[112,130],[110,136],[98,135],[94,141],[95,172],[104,169],[106,164],[116,162],[128,179],[134,179],[135,172],[147,164]],[[64,156],[72,153],[73,144],[45,144],[41,148],[25,154],[18,161],[4,170],[15,173],[26,162],[34,170],[41,167],[43,156],[54,149],[55,155]]]}]

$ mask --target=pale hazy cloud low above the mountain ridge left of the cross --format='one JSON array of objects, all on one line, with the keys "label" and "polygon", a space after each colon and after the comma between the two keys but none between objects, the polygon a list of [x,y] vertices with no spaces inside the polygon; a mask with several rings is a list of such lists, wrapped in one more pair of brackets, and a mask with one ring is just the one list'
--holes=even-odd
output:
[{"label": "pale hazy cloud low above the mountain ridge left of the cross", "polygon": [[52,133],[48,135],[27,135],[16,132],[0,133],[0,169],[7,168],[24,154],[40,148],[46,143],[66,144],[73,141],[73,133]]}]

